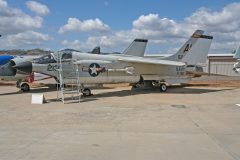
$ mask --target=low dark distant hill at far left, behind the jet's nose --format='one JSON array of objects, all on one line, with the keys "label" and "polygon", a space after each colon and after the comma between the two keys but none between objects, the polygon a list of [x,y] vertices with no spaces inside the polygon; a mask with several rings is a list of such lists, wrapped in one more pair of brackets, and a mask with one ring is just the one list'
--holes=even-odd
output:
[{"label": "low dark distant hill at far left, behind the jet's nose", "polygon": [[0,55],[9,54],[9,55],[44,55],[51,53],[52,51],[45,51],[42,49],[30,49],[30,50],[23,50],[23,49],[13,49],[13,50],[0,50]]}]

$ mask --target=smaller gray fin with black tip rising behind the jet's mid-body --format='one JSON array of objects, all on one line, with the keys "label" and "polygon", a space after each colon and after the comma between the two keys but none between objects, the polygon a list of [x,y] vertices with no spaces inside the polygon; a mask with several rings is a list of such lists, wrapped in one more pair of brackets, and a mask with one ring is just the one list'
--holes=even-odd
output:
[{"label": "smaller gray fin with black tip rising behind the jet's mid-body", "polygon": [[143,57],[148,40],[135,39],[129,47],[123,52],[124,55]]}]

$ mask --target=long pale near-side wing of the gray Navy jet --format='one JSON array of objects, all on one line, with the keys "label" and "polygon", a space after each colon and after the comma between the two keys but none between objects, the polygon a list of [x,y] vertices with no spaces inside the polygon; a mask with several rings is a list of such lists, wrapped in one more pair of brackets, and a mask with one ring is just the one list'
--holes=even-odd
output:
[{"label": "long pale near-side wing of the gray Navy jet", "polygon": [[155,64],[155,65],[167,65],[167,66],[185,66],[183,62],[142,58],[142,57],[121,57],[118,61],[130,62],[130,63],[142,63],[142,64]]}]

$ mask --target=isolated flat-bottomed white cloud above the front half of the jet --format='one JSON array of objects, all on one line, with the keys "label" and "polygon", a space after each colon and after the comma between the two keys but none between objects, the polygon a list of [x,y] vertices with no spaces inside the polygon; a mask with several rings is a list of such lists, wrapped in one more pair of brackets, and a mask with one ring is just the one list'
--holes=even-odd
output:
[{"label": "isolated flat-bottomed white cloud above the front half of the jet", "polygon": [[88,19],[80,21],[77,18],[69,18],[67,24],[60,27],[59,33],[65,32],[107,32],[110,27],[100,19]]}]

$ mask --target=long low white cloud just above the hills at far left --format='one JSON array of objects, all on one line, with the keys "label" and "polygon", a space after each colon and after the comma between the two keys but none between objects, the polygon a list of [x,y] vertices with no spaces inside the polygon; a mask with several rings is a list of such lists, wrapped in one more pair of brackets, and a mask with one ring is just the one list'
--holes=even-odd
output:
[{"label": "long low white cloud just above the hills at far left", "polygon": [[44,41],[51,40],[52,38],[47,34],[42,34],[35,31],[26,31],[14,35],[7,35],[0,38],[1,47],[23,47],[26,45],[39,45]]}]

